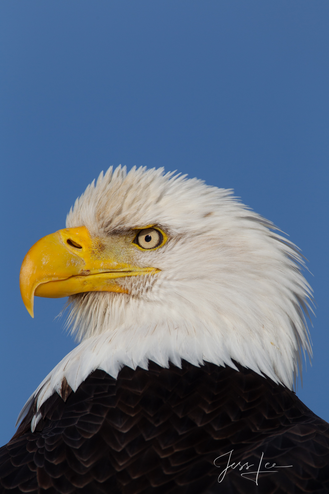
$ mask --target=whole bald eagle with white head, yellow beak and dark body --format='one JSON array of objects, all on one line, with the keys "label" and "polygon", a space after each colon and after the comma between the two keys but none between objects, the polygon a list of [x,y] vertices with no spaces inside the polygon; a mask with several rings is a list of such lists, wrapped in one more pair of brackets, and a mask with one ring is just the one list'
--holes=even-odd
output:
[{"label": "whole bald eagle with white head, yellow beak and dark body", "polygon": [[231,190],[110,168],[39,240],[24,304],[66,297],[79,344],[0,450],[1,493],[329,492],[299,250]]}]

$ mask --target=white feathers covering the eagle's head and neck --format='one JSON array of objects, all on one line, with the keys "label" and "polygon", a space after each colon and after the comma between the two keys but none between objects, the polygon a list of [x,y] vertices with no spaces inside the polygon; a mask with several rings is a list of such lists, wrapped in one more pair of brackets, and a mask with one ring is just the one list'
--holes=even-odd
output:
[{"label": "white feathers covering the eagle's head and neck", "polygon": [[[156,250],[136,249],[134,262],[161,271],[121,278],[129,294],[71,297],[69,322],[81,343],[44,379],[37,409],[64,377],[73,391],[95,369],[113,377],[127,365],[147,369],[181,359],[244,367],[292,388],[301,354],[312,350],[302,312],[311,288],[298,248],[231,190],[163,169],[110,168],[89,185],[67,217],[106,237],[157,225],[168,235]],[[19,418],[20,418],[19,417]],[[34,419],[34,429],[39,414]]]}]

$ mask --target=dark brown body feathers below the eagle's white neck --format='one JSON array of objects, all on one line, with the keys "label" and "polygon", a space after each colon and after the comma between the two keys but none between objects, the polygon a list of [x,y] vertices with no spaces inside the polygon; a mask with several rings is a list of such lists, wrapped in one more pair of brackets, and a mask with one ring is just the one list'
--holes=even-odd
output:
[{"label": "dark brown body feathers below the eagle's white neck", "polygon": [[[33,407],[0,450],[0,493],[301,494],[329,492],[329,424],[290,390],[240,366],[93,372]],[[65,383],[64,383],[65,384]],[[67,384],[67,383],[66,383]],[[241,476],[231,463],[276,473]],[[255,469],[255,466],[252,470]],[[272,469],[273,470],[273,469]],[[247,472],[246,469],[243,472]]]}]

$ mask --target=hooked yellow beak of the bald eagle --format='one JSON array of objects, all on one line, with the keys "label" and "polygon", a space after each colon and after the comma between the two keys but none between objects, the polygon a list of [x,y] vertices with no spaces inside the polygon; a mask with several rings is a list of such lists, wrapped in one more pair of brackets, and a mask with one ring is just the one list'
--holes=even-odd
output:
[{"label": "hooked yellow beak of the bald eagle", "polygon": [[24,257],[19,278],[29,314],[34,317],[34,295],[59,298],[85,291],[128,293],[115,279],[160,271],[122,262],[114,250],[92,239],[84,226],[65,228],[38,240]]}]

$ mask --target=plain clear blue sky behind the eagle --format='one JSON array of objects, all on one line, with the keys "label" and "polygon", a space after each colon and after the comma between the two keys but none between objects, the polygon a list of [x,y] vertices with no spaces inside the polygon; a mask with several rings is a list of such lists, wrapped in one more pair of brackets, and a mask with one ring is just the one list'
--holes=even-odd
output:
[{"label": "plain clear blue sky behind the eagle", "polygon": [[302,249],[317,308],[297,395],[329,420],[328,21],[327,0],[0,3],[1,444],[74,347],[65,299],[24,308],[23,257],[119,164],[233,188]]}]

